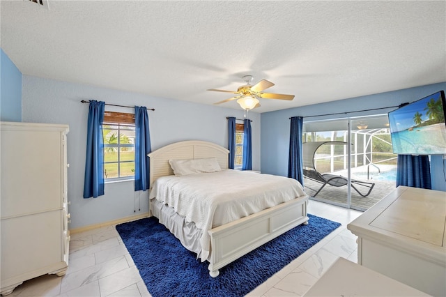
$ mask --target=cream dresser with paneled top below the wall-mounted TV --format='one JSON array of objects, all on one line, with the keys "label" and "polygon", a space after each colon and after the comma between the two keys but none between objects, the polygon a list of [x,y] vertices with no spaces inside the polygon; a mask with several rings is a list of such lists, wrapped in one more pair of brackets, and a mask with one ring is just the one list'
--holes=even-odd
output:
[{"label": "cream dresser with paneled top below the wall-mounted TV", "polygon": [[358,264],[446,296],[446,192],[399,186],[347,228]]}]

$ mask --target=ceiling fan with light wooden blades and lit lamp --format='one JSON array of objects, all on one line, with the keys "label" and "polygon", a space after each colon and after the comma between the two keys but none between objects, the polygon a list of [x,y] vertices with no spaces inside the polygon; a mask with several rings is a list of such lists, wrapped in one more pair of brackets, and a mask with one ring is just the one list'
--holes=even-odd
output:
[{"label": "ceiling fan with light wooden blades and lit lamp", "polygon": [[233,98],[229,98],[220,102],[216,102],[214,104],[220,104],[224,102],[228,102],[231,100],[236,100],[238,104],[243,109],[253,109],[256,107],[260,107],[259,99],[257,98],[265,98],[265,99],[279,99],[279,100],[293,100],[294,95],[285,95],[285,94],[275,94],[275,93],[263,93],[263,90],[266,90],[270,88],[271,86],[274,86],[272,82],[269,82],[266,79],[262,79],[257,84],[252,85],[252,75],[245,75],[243,77],[246,84],[243,86],[240,86],[237,91],[226,91],[226,90],[219,90],[219,89],[208,89],[208,91],[217,91],[217,92],[226,92],[226,93],[234,93],[238,94],[237,96]]}]

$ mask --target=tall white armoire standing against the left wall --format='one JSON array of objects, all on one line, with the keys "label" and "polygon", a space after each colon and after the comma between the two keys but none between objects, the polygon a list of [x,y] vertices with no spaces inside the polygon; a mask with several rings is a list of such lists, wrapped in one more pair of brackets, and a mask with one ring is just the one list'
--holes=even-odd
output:
[{"label": "tall white armoire standing against the left wall", "polygon": [[68,125],[0,122],[1,290],[68,268]]}]

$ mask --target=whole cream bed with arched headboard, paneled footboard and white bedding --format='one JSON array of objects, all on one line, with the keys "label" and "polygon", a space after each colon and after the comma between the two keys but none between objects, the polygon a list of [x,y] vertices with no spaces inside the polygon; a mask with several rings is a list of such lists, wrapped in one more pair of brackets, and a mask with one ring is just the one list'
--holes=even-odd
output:
[{"label": "whole cream bed with arched headboard, paneled footboard and white bedding", "polygon": [[[160,223],[164,224],[187,250],[196,252],[197,258],[209,262],[208,270],[211,277],[217,277],[220,268],[244,254],[299,224],[308,223],[308,195],[305,194],[300,183],[283,176],[228,169],[229,151],[222,146],[197,140],[176,142],[149,153],[148,157],[151,167],[150,215],[158,218]],[[201,162],[201,160],[214,162],[215,165],[203,172],[176,175],[178,168],[174,165],[180,162]],[[175,174],[172,167],[176,168]],[[214,167],[218,168],[213,170]],[[226,181],[226,176],[233,179]],[[200,191],[193,188],[200,183],[197,182],[197,178],[204,185]],[[217,185],[210,187],[213,178],[217,178],[219,184],[222,184],[218,185],[220,188],[214,188]],[[228,186],[235,183],[236,179],[244,182],[240,188],[237,188],[240,190]],[[266,188],[275,188],[273,184],[279,185],[279,192],[261,190],[259,185],[263,183]],[[251,190],[248,187],[252,187]],[[231,189],[229,193],[226,193],[225,188]],[[198,197],[198,202],[189,200],[192,198],[186,194],[190,191],[192,191],[191,196]],[[201,191],[204,192],[201,193]],[[260,200],[257,196],[254,197],[254,194],[243,197],[248,201],[244,202],[242,192],[256,192],[256,195],[264,196],[263,198],[268,199],[268,202]],[[174,198],[170,197],[171,193],[179,195],[183,203],[174,202]],[[212,195],[225,202],[219,202],[216,205],[213,200],[209,202],[208,197]],[[237,196],[237,199],[229,199],[232,196]],[[234,201],[227,202],[229,208],[222,208],[222,204],[226,204],[228,200]],[[229,203],[243,204],[248,206],[248,209],[238,213],[238,206],[232,206]],[[178,206],[178,204],[183,204],[183,206]],[[208,211],[206,208],[206,211],[197,214],[197,209],[201,210],[204,204],[210,206],[211,210]],[[255,206],[252,206],[253,204]],[[185,213],[184,208],[190,208],[189,211],[192,210],[192,214]],[[228,211],[230,208],[231,211]],[[237,211],[232,215],[222,215],[222,213],[232,213],[233,209]]]}]

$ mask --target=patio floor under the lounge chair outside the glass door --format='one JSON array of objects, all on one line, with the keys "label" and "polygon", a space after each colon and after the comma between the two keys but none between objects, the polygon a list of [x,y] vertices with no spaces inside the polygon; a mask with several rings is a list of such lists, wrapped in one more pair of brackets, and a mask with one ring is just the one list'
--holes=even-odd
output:
[{"label": "patio floor under the lounge chair outside the glass door", "polygon": [[[374,188],[371,190],[370,195],[367,197],[362,197],[357,194],[357,192],[351,189],[351,208],[358,211],[367,211],[371,206],[376,204],[376,202],[383,199],[388,193],[392,192],[396,187],[394,181],[373,181],[375,183]],[[326,202],[334,204],[337,206],[346,206],[347,203],[347,187],[334,187],[332,185],[325,185],[325,187],[318,192],[316,197],[313,195],[321,188],[322,183],[318,183],[310,180],[309,178],[304,178],[304,189],[308,195],[311,196],[310,199],[314,199],[321,202]],[[357,186],[357,189],[361,192],[367,192],[366,188]]]}]

